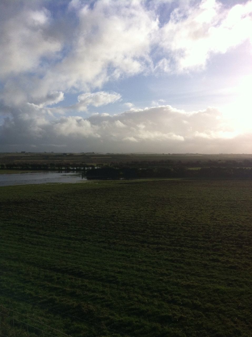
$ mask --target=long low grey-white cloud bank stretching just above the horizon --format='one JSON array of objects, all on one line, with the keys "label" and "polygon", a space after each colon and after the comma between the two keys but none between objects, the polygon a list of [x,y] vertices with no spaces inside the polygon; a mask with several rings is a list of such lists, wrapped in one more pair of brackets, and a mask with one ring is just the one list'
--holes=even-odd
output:
[{"label": "long low grey-white cloud bank stretching just above the horizon", "polygon": [[[91,146],[104,152],[223,152],[242,136],[230,127],[216,108],[186,113],[170,105],[126,111],[114,116],[94,114],[52,118],[46,109],[24,106],[0,126],[2,146],[64,144],[70,151]],[[33,112],[33,113],[32,113]],[[248,149],[248,145],[247,148]],[[223,151],[222,151],[222,150]],[[240,149],[240,152],[246,152]]]}]

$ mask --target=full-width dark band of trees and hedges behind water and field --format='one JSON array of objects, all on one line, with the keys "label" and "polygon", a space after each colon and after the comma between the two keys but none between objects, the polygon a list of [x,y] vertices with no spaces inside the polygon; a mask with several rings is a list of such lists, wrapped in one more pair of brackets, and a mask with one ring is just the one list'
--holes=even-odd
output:
[{"label": "full-width dark band of trees and hedges behind water and field", "polygon": [[131,161],[92,165],[84,162],[19,162],[0,164],[0,169],[82,172],[88,179],[133,178],[252,178],[252,160]]}]

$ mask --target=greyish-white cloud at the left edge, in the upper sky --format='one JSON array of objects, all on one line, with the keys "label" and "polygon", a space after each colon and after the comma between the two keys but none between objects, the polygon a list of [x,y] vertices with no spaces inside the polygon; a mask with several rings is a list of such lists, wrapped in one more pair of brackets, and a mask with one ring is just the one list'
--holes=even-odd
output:
[{"label": "greyish-white cloud at the left edge, in the upper sky", "polygon": [[0,76],[32,71],[41,57],[51,58],[62,42],[50,33],[51,14],[45,8],[16,13],[0,24]]}]

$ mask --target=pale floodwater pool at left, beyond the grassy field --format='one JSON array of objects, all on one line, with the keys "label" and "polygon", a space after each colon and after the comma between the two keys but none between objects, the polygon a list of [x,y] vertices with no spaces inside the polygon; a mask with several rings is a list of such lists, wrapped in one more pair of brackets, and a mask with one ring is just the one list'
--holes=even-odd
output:
[{"label": "pale floodwater pool at left, beyond the grassy field", "polygon": [[45,183],[76,183],[82,179],[81,173],[32,172],[20,174],[0,174],[0,186],[45,184]]}]

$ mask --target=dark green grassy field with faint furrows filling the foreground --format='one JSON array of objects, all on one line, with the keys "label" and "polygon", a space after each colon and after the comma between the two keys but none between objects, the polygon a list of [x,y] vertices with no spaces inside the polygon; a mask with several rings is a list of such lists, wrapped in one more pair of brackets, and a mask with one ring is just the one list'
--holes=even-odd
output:
[{"label": "dark green grassy field with faint furrows filling the foreground", "polygon": [[252,181],[8,186],[0,201],[0,335],[252,336]]}]

